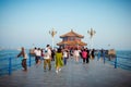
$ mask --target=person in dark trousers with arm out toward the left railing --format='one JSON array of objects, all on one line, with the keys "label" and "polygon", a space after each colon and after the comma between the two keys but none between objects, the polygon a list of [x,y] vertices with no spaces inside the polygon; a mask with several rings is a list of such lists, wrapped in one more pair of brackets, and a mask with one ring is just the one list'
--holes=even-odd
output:
[{"label": "person in dark trousers with arm out toward the left railing", "polygon": [[24,69],[24,71],[26,72],[27,71],[27,64],[26,64],[26,60],[27,60],[27,54],[24,50],[24,47],[21,48],[21,52],[17,54],[17,58],[22,57],[23,60],[22,60],[22,66]]}]

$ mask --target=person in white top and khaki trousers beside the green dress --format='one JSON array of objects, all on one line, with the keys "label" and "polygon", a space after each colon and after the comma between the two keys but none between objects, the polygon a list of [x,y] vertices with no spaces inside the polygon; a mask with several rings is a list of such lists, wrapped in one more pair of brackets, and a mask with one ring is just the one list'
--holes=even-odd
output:
[{"label": "person in white top and khaki trousers beside the green dress", "polygon": [[51,50],[50,46],[47,45],[44,53],[44,71],[46,72],[46,66],[48,64],[49,71],[51,70]]}]

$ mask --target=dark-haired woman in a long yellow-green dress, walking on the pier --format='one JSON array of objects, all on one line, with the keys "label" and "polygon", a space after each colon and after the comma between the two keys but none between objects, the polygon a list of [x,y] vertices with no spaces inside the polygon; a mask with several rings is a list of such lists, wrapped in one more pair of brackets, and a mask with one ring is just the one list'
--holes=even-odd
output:
[{"label": "dark-haired woman in a long yellow-green dress, walking on the pier", "polygon": [[56,52],[56,73],[58,74],[59,71],[61,71],[61,67],[63,66],[63,61],[62,61],[62,51],[60,48],[58,48]]}]

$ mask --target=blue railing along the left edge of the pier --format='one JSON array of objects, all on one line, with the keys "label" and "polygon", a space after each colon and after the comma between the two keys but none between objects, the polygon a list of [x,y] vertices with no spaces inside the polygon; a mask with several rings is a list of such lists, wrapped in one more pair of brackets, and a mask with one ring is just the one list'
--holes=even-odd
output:
[{"label": "blue railing along the left edge of the pier", "polygon": [[[1,64],[0,64],[0,76],[1,75],[11,75],[13,71],[22,69],[22,58],[16,58],[16,57],[7,57],[0,59]],[[35,63],[35,58],[28,54],[27,58],[27,66],[31,66]]]}]

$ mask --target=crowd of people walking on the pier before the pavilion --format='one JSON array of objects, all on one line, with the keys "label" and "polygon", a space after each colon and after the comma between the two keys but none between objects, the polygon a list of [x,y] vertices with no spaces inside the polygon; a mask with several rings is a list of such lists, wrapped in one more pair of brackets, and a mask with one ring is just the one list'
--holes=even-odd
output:
[{"label": "crowd of people walking on the pier before the pavilion", "polygon": [[[34,57],[35,57],[35,63],[36,66],[38,66],[41,63],[41,59],[44,60],[44,71],[51,71],[51,62],[55,61],[55,67],[56,67],[56,73],[59,73],[61,71],[61,67],[63,65],[67,65],[67,61],[69,58],[74,58],[74,61],[79,63],[80,59],[83,60],[83,64],[90,62],[90,58],[94,59],[94,49],[91,51],[87,48],[82,48],[82,49],[51,49],[50,45],[47,45],[45,49],[40,48],[34,48],[33,50]],[[24,50],[24,47],[22,47],[22,51],[17,54],[19,57],[23,57],[22,60],[22,66],[24,71],[27,71],[27,64],[26,64],[26,59],[27,54]]]}]

